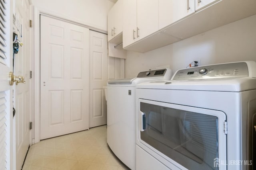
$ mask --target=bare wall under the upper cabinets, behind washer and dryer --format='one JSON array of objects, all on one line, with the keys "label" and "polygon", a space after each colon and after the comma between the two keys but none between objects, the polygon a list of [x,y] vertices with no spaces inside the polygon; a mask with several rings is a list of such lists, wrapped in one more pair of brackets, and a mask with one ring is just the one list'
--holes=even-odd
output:
[{"label": "bare wall under the upper cabinets, behind washer and dryer", "polygon": [[127,51],[125,76],[163,65],[175,72],[192,61],[207,65],[245,60],[256,61],[256,15],[147,53]]}]

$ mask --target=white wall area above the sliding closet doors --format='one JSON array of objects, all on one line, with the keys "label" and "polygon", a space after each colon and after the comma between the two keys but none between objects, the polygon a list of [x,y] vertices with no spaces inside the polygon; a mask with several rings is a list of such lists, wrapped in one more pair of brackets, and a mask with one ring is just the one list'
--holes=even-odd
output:
[{"label": "white wall area above the sliding closet doors", "polygon": [[107,31],[110,0],[31,0],[39,10]]}]

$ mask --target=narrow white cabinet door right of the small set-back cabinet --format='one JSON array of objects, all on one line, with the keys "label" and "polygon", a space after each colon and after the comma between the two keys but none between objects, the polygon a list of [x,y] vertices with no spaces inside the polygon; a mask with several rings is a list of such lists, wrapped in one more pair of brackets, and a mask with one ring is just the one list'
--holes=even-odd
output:
[{"label": "narrow white cabinet door right of the small set-back cabinet", "polygon": [[124,0],[123,47],[137,40],[137,0]]}]

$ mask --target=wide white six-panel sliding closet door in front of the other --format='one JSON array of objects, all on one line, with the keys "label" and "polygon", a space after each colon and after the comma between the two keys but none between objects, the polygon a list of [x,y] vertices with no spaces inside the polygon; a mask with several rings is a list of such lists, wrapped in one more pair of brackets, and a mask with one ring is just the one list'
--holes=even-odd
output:
[{"label": "wide white six-panel sliding closet door in front of the other", "polygon": [[89,29],[40,16],[40,139],[89,129]]}]

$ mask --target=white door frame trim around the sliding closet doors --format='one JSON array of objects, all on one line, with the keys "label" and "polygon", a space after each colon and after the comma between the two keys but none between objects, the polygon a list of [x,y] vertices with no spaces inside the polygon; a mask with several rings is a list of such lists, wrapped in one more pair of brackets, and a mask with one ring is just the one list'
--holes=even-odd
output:
[{"label": "white door frame trim around the sliding closet doors", "polygon": [[[58,20],[66,21],[69,23],[73,23],[75,25],[79,25],[82,27],[89,28],[90,30],[97,31],[100,33],[107,34],[106,30],[98,29],[96,27],[93,27],[92,25],[88,25],[88,23],[83,23],[80,20],[77,20],[76,18],[69,18],[68,16],[64,16],[62,14],[58,14],[56,12],[52,11],[47,11],[45,9],[41,9],[35,6],[31,7],[32,15],[34,14],[33,17],[33,27],[34,27],[34,39],[33,43],[31,45],[33,55],[34,55],[34,61],[31,61],[32,68],[32,77],[34,78],[34,83],[32,86],[34,86],[34,96],[32,99],[34,99],[31,102],[32,108],[31,110],[34,111],[34,114],[32,112],[32,118],[34,117],[34,122],[33,122],[33,133],[34,133],[34,138],[32,139],[32,144],[40,142],[40,15],[48,16],[51,18],[56,18]],[[34,44],[34,46],[33,46]],[[33,60],[33,59],[32,59]],[[32,119],[33,120],[33,119]],[[33,135],[32,135],[33,136]]]}]

